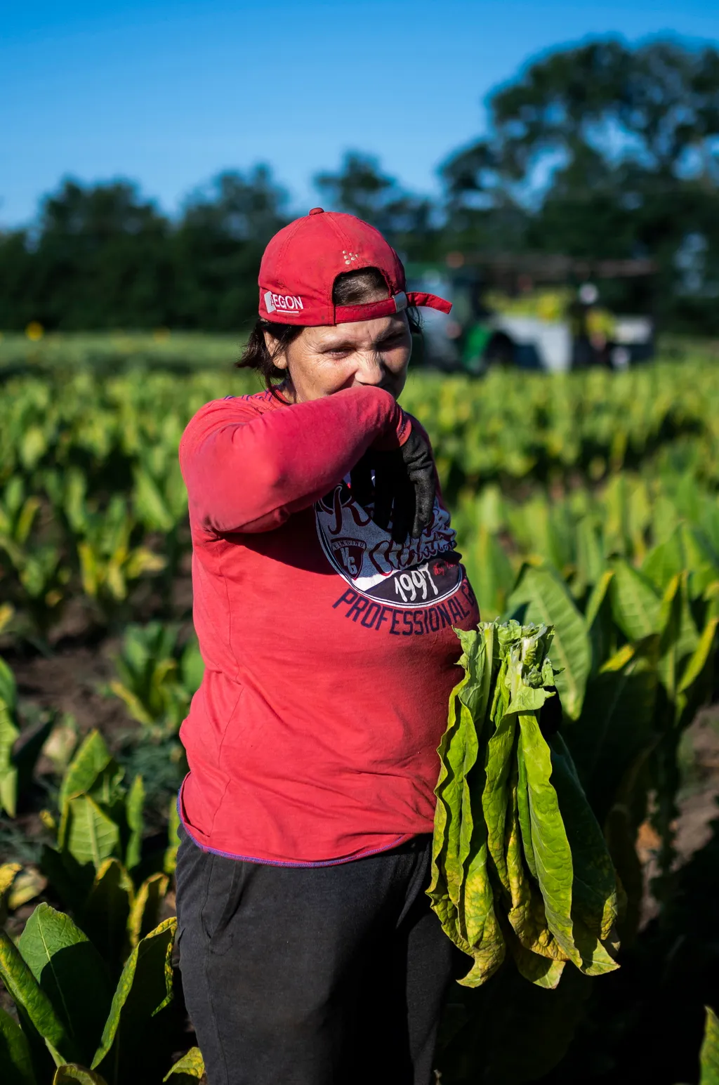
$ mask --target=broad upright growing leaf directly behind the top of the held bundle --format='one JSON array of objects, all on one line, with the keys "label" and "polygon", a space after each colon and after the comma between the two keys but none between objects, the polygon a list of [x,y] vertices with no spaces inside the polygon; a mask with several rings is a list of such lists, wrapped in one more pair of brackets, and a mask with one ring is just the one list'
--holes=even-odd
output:
[{"label": "broad upright growing leaf directly behind the top of the held bundle", "polygon": [[585,620],[577,610],[564,580],[550,566],[526,567],[512,592],[510,607],[527,603],[525,620],[554,626],[552,661],[563,668],[556,675],[562,707],[577,719],[585,699],[591,664],[591,648]]}]

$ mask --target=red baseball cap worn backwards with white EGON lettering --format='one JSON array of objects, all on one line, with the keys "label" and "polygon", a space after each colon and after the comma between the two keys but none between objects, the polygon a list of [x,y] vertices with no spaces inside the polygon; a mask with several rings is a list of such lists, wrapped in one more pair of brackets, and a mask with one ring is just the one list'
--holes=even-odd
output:
[{"label": "red baseball cap worn backwards with white EGON lettering", "polygon": [[[364,305],[334,305],[338,275],[377,268],[389,297]],[[378,230],[355,215],[312,207],[275,233],[259,266],[259,315],[282,324],[342,324],[426,305],[449,312],[451,303],[435,294],[406,290],[399,256]]]}]

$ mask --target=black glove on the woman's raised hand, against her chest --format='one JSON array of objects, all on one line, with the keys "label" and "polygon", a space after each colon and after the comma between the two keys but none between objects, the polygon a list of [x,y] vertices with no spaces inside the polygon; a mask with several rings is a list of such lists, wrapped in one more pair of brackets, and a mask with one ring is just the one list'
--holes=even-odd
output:
[{"label": "black glove on the woman's raised hand, against her chest", "polygon": [[[374,486],[372,485],[374,471]],[[372,519],[391,537],[405,542],[408,534],[419,538],[432,523],[437,480],[426,441],[412,429],[401,448],[370,448],[350,472],[352,495],[367,508],[374,500]]]}]

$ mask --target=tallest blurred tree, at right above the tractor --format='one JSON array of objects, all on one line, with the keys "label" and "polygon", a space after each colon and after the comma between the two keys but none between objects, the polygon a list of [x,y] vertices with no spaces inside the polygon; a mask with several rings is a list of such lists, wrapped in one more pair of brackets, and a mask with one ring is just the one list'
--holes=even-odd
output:
[{"label": "tallest blurred tree, at right above the tractor", "polygon": [[[450,222],[524,214],[518,247],[653,256],[665,314],[702,312],[719,328],[716,49],[607,39],[562,50],[496,91],[489,120],[442,167]],[[688,278],[691,252],[701,258]]]}]

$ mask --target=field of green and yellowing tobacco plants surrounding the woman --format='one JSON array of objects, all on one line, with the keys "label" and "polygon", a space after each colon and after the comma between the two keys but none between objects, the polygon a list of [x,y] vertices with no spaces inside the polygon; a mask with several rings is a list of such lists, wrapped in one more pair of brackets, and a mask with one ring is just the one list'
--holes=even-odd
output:
[{"label": "field of green and yellowing tobacco plants surrounding the woman", "polygon": [[[203,666],[177,448],[202,404],[257,391],[235,356],[0,341],[3,1085],[203,1075],[174,952],[177,736]],[[441,1085],[719,1082],[716,359],[418,371],[401,403],[483,618],[554,628],[561,741],[626,897],[611,974],[547,990],[508,961],[454,985]]]}]

